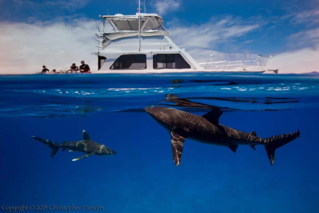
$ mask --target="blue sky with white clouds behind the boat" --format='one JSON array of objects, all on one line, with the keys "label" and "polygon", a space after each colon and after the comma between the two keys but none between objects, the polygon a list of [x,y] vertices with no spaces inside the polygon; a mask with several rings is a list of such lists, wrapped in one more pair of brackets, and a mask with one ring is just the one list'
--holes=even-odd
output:
[{"label": "blue sky with white clouds behind the boat", "polygon": [[[144,1],[141,1],[144,12]],[[135,14],[138,1],[0,0],[0,74],[97,69],[98,15]],[[276,55],[280,73],[319,71],[319,0],[146,0],[172,40],[198,62],[214,54]]]}]

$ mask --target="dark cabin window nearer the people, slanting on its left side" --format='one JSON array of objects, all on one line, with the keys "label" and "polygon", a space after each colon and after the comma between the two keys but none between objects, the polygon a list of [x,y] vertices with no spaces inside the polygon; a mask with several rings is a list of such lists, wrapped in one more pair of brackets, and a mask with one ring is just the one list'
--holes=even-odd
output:
[{"label": "dark cabin window nearer the people, slanting on its left side", "polygon": [[145,54],[127,54],[118,57],[110,69],[146,69]]}]

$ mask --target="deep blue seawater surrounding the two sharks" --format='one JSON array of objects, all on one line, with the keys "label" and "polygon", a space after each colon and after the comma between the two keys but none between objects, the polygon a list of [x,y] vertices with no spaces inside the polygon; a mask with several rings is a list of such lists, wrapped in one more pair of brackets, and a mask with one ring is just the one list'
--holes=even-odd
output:
[{"label": "deep blue seawater surrounding the two sharks", "polygon": [[[314,75],[0,76],[1,211],[68,212],[48,209],[54,203],[80,207],[70,212],[319,212],[318,89]],[[278,148],[272,166],[263,146],[233,153],[186,139],[176,167],[169,132],[145,106],[219,108],[223,125],[300,138]],[[31,137],[78,141],[82,130],[117,154],[50,158]]]}]

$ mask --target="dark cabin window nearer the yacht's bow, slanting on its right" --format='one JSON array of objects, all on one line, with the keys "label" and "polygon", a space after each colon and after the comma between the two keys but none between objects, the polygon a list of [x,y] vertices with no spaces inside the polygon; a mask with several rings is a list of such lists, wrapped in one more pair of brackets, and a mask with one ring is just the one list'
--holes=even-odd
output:
[{"label": "dark cabin window nearer the yacht's bow, slanting on its right", "polygon": [[189,69],[189,64],[180,54],[154,54],[154,69]]}]

